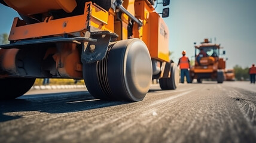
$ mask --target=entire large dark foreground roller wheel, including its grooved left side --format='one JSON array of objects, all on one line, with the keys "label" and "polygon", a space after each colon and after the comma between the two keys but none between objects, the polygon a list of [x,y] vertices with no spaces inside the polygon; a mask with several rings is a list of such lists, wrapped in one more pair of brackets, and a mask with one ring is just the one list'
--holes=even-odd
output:
[{"label": "entire large dark foreground roller wheel, including its grooved left side", "polygon": [[141,101],[152,80],[150,53],[140,39],[111,43],[103,60],[83,64],[83,76],[93,97]]}]

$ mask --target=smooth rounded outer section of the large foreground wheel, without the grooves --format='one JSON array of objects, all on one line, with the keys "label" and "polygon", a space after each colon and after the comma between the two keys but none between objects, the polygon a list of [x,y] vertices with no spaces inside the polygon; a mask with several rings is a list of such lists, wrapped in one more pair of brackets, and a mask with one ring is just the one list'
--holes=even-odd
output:
[{"label": "smooth rounded outer section of the large foreground wheel, without the grooves", "polygon": [[152,64],[148,48],[139,39],[115,43],[108,55],[109,86],[114,95],[140,101],[150,89]]}]

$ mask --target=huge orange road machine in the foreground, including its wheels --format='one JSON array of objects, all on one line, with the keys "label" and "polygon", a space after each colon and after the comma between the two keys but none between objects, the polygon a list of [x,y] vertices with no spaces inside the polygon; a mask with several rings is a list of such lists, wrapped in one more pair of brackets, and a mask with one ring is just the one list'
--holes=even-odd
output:
[{"label": "huge orange road machine in the foreground, including its wheels", "polygon": [[84,79],[103,100],[141,101],[152,79],[162,89],[178,86],[169,30],[155,0],[0,2],[22,17],[14,18],[10,44],[0,46],[1,100],[25,94],[36,78]]}]

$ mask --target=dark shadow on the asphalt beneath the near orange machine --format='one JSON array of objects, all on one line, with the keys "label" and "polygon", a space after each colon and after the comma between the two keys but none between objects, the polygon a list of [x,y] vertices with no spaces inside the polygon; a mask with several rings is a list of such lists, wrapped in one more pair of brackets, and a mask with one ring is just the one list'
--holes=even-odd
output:
[{"label": "dark shadow on the asphalt beneath the near orange machine", "polygon": [[[0,122],[22,118],[23,116],[13,115],[14,112],[19,111],[39,111],[52,114],[72,113],[128,103],[130,102],[98,100],[87,91],[23,95],[15,100],[0,101]],[[12,115],[9,116],[5,113]]]}]

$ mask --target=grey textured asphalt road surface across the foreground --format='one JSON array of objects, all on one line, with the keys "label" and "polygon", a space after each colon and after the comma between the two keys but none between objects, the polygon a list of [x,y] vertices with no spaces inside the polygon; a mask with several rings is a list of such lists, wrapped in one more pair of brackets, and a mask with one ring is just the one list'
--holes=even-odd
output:
[{"label": "grey textured asphalt road surface across the foreground", "polygon": [[0,101],[0,142],[256,142],[249,82],[153,85],[141,102],[72,90]]}]

